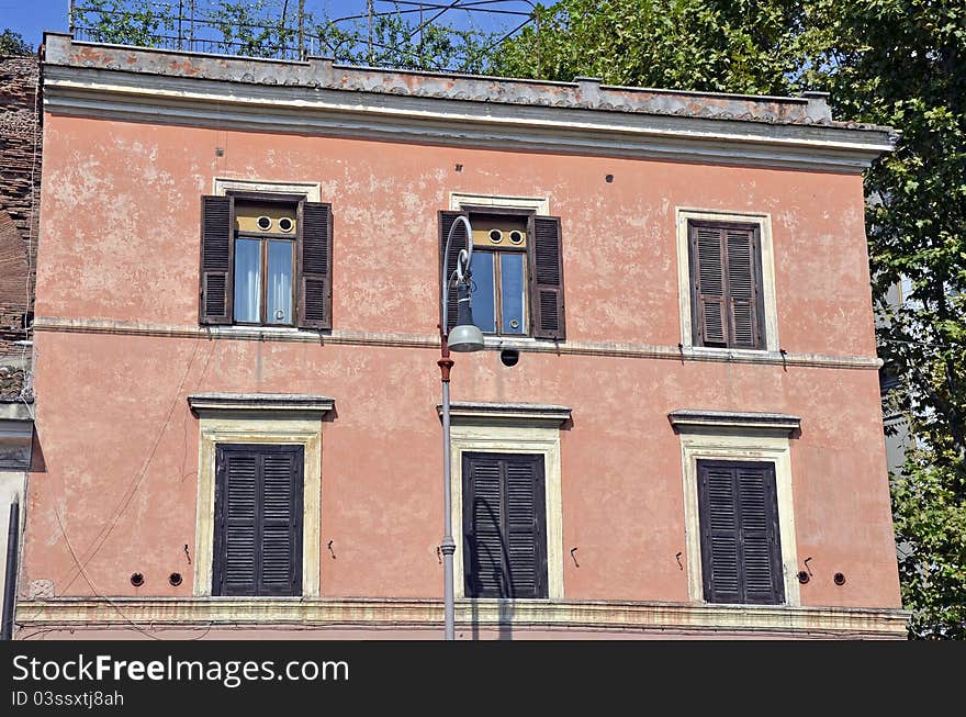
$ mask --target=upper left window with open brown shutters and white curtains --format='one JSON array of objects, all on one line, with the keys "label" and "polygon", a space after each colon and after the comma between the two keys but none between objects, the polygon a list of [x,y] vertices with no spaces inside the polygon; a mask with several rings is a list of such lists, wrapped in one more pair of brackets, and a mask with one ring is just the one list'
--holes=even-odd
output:
[{"label": "upper left window with open brown shutters and white curtains", "polygon": [[292,194],[202,198],[202,324],[332,328],[332,209]]}]

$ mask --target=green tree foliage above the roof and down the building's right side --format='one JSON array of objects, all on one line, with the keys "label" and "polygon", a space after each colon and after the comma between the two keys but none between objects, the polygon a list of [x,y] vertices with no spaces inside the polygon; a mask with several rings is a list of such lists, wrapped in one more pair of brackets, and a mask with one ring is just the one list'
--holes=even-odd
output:
[{"label": "green tree foliage above the roof and down the building's right side", "polygon": [[[866,173],[880,355],[912,446],[892,477],[913,637],[966,638],[966,3],[562,0],[502,72],[685,90],[828,90],[834,115],[899,130]],[[913,291],[889,307],[902,278]]]}]

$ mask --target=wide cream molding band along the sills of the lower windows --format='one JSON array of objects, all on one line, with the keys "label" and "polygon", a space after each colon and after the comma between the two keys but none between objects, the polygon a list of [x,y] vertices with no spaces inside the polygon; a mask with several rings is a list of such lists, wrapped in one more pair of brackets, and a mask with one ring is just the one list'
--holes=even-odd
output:
[{"label": "wide cream molding band along the sills of the lower windows", "polygon": [[[15,621],[21,631],[57,627],[109,628],[223,625],[363,626],[441,630],[442,601],[392,598],[59,598],[20,601]],[[906,639],[909,613],[900,609],[787,607],[775,605],[687,605],[591,601],[457,600],[460,628],[514,625],[532,628],[632,630],[641,635],[684,631],[751,636],[777,632],[791,637]],[[16,635],[14,635],[16,637]]]}]

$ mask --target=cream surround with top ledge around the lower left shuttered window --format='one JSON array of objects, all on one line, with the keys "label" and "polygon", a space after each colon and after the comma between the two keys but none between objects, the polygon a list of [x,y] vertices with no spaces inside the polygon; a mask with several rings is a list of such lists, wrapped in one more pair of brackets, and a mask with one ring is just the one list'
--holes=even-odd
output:
[{"label": "cream surround with top ledge around the lower left shuttered window", "polygon": [[302,446],[304,451],[301,597],[318,597],[322,425],[335,407],[333,399],[300,394],[194,394],[188,396],[188,402],[199,418],[200,437],[194,596],[212,594],[218,444],[291,444]]}]

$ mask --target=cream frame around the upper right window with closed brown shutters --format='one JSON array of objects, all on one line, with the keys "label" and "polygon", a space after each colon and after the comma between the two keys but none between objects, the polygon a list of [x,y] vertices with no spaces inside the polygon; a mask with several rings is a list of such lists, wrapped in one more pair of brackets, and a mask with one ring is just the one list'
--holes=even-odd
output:
[{"label": "cream frame around the upper right window with closed brown shutters", "polygon": [[[690,260],[688,251],[688,223],[693,221],[757,225],[762,250],[762,302],[765,309],[764,349],[718,348],[694,345],[690,306]],[[765,351],[778,351],[780,344],[778,343],[778,311],[775,300],[775,256],[772,243],[772,215],[759,212],[685,209],[678,206],[675,209],[675,224],[677,233],[677,295],[681,315],[681,345],[690,351],[708,354],[760,356]]]}]

